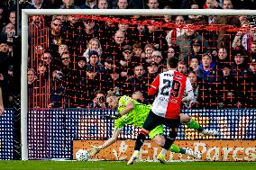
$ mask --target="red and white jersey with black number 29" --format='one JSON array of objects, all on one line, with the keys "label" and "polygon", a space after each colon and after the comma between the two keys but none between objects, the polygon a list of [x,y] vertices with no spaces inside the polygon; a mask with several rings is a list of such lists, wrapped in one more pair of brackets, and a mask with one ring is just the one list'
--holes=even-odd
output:
[{"label": "red and white jersey with black number 29", "polygon": [[159,93],[152,104],[152,112],[168,119],[177,119],[184,91],[193,91],[187,78],[174,70],[158,75],[151,84],[149,94]]}]

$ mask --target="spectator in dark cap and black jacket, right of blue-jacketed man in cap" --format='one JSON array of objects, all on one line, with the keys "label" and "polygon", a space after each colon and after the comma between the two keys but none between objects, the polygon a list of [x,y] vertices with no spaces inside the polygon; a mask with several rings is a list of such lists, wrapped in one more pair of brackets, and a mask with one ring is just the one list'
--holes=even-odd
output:
[{"label": "spectator in dark cap and black jacket, right of blue-jacketed man in cap", "polygon": [[223,64],[220,67],[222,75],[218,76],[217,100],[219,108],[237,108],[241,100],[242,86],[237,84],[236,79],[231,75],[231,66]]}]

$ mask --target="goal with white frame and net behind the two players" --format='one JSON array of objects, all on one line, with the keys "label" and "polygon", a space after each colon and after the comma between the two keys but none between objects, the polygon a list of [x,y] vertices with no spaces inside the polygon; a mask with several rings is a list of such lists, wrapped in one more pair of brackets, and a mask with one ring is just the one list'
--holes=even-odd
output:
[{"label": "goal with white frame and net behind the two players", "polygon": [[[248,108],[253,107],[254,83],[240,68],[231,73],[233,82],[223,77],[226,69],[234,69],[235,60],[242,60],[246,70],[253,66],[255,13],[23,10],[23,160],[72,159],[76,150],[73,141],[110,138],[114,120],[106,115],[116,112],[96,109],[96,91],[106,94],[118,87],[119,94],[145,94],[154,77],[151,73],[156,73],[154,69],[166,70],[166,59],[172,57],[182,61],[181,65],[189,69],[185,70],[187,74],[194,74],[199,85],[195,86],[199,94],[194,109],[187,110],[188,103],[183,112],[204,128],[220,131],[214,138],[201,138],[197,131],[181,126],[178,139],[249,139],[251,146],[250,139],[255,139],[255,110]],[[226,22],[230,20],[235,22]],[[204,58],[210,62],[210,72],[198,72]],[[136,69],[146,75],[142,81],[134,78],[140,75],[136,75]],[[233,88],[226,89],[230,85]],[[147,99],[151,103],[151,98]],[[127,126],[123,131],[120,139],[136,139],[138,129]]]}]

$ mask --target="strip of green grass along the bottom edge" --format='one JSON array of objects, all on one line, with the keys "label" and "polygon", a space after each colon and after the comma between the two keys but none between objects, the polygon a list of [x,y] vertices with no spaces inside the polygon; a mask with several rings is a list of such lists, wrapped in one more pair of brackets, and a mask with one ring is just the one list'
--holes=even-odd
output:
[{"label": "strip of green grass along the bottom edge", "polygon": [[256,162],[0,161],[0,170],[256,170]]}]

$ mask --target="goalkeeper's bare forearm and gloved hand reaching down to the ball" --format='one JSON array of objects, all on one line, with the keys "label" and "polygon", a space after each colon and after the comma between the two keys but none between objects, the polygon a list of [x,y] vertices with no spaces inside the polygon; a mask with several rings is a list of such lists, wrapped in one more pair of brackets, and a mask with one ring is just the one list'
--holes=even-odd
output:
[{"label": "goalkeeper's bare forearm and gloved hand reaching down to the ball", "polygon": [[105,140],[104,144],[96,147],[96,146],[91,146],[92,148],[88,149],[88,152],[90,156],[96,155],[101,149],[107,148],[108,146],[112,145],[115,140],[117,140],[118,136],[122,133],[121,130],[114,130],[113,135],[110,139]]}]

